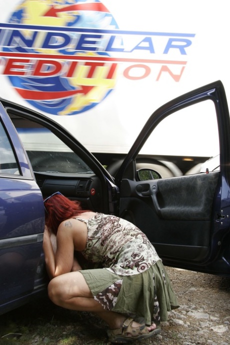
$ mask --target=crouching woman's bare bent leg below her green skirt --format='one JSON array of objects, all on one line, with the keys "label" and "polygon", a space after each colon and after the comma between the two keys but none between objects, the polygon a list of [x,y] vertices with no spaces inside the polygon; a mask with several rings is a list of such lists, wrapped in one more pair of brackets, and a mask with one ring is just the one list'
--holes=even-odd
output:
[{"label": "crouching woman's bare bent leg below her green skirt", "polygon": [[[104,320],[109,328],[122,326],[125,316],[113,311],[106,311],[102,305],[93,299],[92,293],[80,272],[69,272],[53,278],[48,284],[48,295],[53,303],[66,309],[94,312]],[[138,323],[133,322],[133,327]],[[148,327],[155,328],[153,323]]]}]

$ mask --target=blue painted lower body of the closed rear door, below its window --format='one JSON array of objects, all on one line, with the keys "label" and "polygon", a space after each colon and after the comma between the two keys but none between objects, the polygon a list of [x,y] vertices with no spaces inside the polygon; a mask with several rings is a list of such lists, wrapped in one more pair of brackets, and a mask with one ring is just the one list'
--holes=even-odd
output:
[{"label": "blue painted lower body of the closed rear door, below its window", "polygon": [[35,181],[0,178],[0,303],[32,291],[44,210]]}]

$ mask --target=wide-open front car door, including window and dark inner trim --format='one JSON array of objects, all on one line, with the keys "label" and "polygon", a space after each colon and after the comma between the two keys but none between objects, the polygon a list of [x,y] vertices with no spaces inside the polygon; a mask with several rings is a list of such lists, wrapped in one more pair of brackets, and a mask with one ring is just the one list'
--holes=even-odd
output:
[{"label": "wide-open front car door, including window and dark inner trim", "polygon": [[[184,161],[200,156],[203,164],[161,178],[152,157],[162,151],[168,153],[165,168],[172,155]],[[166,103],[143,127],[115,176],[119,215],[147,235],[164,264],[230,275],[229,158],[230,120],[220,81]]]}]

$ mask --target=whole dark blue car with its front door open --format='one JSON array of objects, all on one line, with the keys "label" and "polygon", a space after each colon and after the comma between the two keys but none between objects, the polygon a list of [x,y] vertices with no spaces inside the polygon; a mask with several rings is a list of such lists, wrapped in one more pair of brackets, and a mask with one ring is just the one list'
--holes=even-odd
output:
[{"label": "whole dark blue car with its front door open", "polygon": [[229,181],[220,81],[158,108],[126,155],[92,154],[52,119],[0,99],[0,313],[46,292],[43,198],[55,191],[136,224],[165,265],[230,276]]}]

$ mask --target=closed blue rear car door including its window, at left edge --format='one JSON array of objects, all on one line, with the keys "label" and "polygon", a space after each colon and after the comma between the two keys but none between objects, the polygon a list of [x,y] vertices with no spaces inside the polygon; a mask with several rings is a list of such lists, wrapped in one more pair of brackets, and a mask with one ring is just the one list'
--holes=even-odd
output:
[{"label": "closed blue rear car door including its window, at left edge", "polygon": [[34,290],[44,207],[27,155],[0,104],[0,312]]}]

